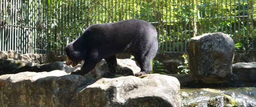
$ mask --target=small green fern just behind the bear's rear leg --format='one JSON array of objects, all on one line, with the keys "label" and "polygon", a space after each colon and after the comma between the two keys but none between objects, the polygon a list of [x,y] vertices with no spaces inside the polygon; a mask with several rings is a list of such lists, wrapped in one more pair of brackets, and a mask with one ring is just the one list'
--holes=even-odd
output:
[{"label": "small green fern just behind the bear's rear leg", "polygon": [[166,74],[165,72],[167,70],[162,66],[163,63],[157,60],[151,60],[151,64],[152,64],[152,71],[150,72],[150,74],[153,74],[153,73]]}]

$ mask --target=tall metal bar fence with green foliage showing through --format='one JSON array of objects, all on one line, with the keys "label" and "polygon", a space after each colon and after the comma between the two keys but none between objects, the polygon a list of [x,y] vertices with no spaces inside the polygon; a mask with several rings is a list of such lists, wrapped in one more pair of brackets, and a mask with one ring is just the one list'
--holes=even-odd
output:
[{"label": "tall metal bar fence with green foliage showing through", "polygon": [[255,0],[1,0],[0,51],[65,54],[92,24],[142,19],[158,31],[159,52],[184,52],[191,37],[224,32],[256,48]]}]

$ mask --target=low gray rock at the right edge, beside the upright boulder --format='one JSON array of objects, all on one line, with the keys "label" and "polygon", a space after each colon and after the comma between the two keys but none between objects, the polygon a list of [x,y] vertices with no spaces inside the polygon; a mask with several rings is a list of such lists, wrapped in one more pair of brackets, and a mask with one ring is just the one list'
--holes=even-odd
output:
[{"label": "low gray rock at the right edge, beside the upright boulder", "polygon": [[233,64],[232,80],[256,81],[256,62]]}]

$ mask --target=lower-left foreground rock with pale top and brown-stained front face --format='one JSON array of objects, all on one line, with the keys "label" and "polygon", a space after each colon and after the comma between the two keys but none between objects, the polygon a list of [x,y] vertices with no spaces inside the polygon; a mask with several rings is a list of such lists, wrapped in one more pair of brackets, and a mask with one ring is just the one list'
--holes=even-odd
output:
[{"label": "lower-left foreground rock with pale top and brown-stained front face", "polygon": [[68,107],[78,87],[94,78],[52,72],[22,72],[0,76],[1,107]]}]

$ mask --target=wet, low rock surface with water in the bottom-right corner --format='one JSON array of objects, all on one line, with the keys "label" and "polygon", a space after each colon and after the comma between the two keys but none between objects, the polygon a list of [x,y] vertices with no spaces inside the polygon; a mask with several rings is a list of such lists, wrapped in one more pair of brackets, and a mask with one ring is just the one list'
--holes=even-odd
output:
[{"label": "wet, low rock surface with water in the bottom-right corner", "polygon": [[182,88],[181,107],[256,107],[256,88]]}]

